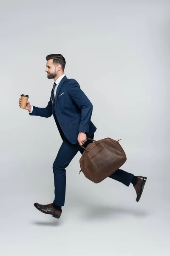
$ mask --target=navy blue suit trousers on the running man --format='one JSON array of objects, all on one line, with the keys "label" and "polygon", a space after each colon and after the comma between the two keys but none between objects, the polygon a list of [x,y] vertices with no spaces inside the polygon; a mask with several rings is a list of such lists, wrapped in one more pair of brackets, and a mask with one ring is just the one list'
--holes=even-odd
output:
[{"label": "navy blue suit trousers on the running man", "polygon": [[[94,139],[94,134],[87,136],[88,138]],[[57,157],[53,163],[54,172],[54,204],[58,206],[64,206],[65,204],[65,189],[66,189],[66,170],[65,168],[69,165],[71,160],[75,157],[78,151],[82,154],[89,143],[93,143],[91,140],[87,140],[82,148],[78,141],[76,144],[70,143],[67,138],[63,137],[63,142],[59,148]],[[130,185],[133,179],[133,174],[123,171],[122,169],[116,170],[111,174],[110,178],[117,180],[126,186]]]}]

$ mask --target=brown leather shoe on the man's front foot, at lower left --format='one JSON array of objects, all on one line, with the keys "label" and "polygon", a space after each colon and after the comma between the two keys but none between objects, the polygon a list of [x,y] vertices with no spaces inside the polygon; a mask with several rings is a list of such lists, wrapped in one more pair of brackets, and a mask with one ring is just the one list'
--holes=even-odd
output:
[{"label": "brown leather shoe on the man's front foot, at lower left", "polygon": [[60,218],[62,210],[56,210],[53,207],[53,204],[38,204],[35,203],[34,207],[37,208],[40,212],[45,214],[51,214],[54,218]]}]

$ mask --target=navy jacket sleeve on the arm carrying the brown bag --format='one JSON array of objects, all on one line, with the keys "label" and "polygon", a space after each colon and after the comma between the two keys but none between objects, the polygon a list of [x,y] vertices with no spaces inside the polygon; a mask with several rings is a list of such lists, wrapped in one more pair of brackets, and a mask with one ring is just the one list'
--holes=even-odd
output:
[{"label": "navy jacket sleeve on the arm carrying the brown bag", "polygon": [[93,105],[88,97],[80,89],[79,83],[75,79],[70,79],[67,86],[68,94],[76,105],[81,109],[81,122],[79,123],[79,131],[88,133]]}]

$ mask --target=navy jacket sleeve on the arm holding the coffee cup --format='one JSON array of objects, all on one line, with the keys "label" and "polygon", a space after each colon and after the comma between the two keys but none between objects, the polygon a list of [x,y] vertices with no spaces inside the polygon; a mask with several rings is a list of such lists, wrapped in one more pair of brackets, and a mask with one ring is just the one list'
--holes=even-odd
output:
[{"label": "navy jacket sleeve on the arm holding the coffee cup", "polygon": [[32,113],[29,113],[30,116],[42,116],[42,117],[50,117],[52,116],[52,102],[51,97],[48,102],[48,105],[46,108],[38,108],[33,106]]}]

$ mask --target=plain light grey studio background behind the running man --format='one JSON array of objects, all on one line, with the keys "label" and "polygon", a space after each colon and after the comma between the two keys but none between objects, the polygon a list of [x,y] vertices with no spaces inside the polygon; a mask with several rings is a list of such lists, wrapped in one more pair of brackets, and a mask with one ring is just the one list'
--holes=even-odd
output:
[{"label": "plain light grey studio background behind the running man", "polygon": [[[0,8],[0,253],[12,255],[169,255],[170,2],[5,1]],[[66,169],[59,220],[34,202],[54,199],[52,164],[62,139],[53,116],[29,116],[18,99],[46,107],[53,80],[45,57],[61,53],[65,74],[94,106],[94,139],[122,139],[133,186],[94,184]]]}]

